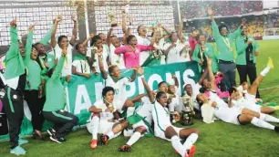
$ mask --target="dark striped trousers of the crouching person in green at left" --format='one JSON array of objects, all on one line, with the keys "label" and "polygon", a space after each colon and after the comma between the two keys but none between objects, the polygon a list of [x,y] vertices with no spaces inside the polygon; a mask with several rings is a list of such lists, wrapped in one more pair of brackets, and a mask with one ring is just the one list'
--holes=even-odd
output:
[{"label": "dark striped trousers of the crouching person in green at left", "polygon": [[72,131],[73,127],[78,125],[78,117],[67,111],[43,111],[46,120],[54,123],[54,130],[57,138],[64,138],[66,134]]}]

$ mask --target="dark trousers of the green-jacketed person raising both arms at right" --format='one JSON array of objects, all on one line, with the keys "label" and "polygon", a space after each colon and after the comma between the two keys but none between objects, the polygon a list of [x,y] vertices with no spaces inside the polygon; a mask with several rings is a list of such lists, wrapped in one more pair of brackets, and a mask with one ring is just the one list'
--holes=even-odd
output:
[{"label": "dark trousers of the green-jacketed person raising both arms at right", "polygon": [[221,81],[221,90],[228,91],[231,87],[236,86],[235,82],[235,63],[219,61],[219,71],[223,73]]}]

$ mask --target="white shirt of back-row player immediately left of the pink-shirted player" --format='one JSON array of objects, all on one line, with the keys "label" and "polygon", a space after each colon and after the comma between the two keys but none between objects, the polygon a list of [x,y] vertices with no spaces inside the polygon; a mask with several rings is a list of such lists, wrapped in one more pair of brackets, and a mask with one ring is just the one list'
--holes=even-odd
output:
[{"label": "white shirt of back-row player immediately left of the pink-shirted player", "polygon": [[124,62],[124,58],[123,58],[123,54],[115,54],[116,47],[114,47],[112,44],[109,47],[110,53],[109,53],[109,58],[110,58],[110,62],[111,65],[117,65],[120,69],[124,69],[125,67],[125,62]]}]

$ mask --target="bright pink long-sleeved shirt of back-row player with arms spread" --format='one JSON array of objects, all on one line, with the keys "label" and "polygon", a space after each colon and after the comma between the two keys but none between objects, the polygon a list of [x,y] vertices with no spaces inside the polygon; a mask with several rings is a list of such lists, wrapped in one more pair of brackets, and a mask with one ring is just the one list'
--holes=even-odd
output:
[{"label": "bright pink long-sleeved shirt of back-row player with arms spread", "polygon": [[140,67],[140,52],[153,50],[154,47],[137,45],[135,52],[130,51],[131,49],[132,48],[129,46],[124,46],[118,47],[114,51],[114,53],[117,55],[124,54],[124,62],[126,68]]}]

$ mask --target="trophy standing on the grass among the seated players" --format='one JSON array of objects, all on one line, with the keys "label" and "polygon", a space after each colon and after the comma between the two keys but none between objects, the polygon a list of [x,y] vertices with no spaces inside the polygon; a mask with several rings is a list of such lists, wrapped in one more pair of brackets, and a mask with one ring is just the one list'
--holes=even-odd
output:
[{"label": "trophy standing on the grass among the seated players", "polygon": [[184,106],[184,109],[182,110],[182,116],[181,116],[181,125],[189,126],[192,125],[193,122],[191,120],[191,117],[194,115],[193,105],[192,105],[192,98],[188,95],[184,95],[182,98],[182,103]]}]

